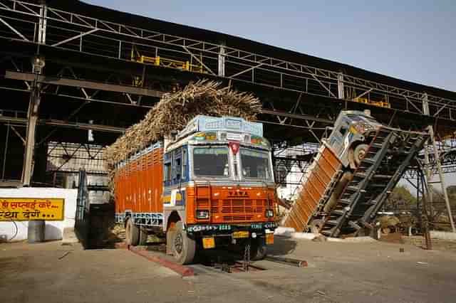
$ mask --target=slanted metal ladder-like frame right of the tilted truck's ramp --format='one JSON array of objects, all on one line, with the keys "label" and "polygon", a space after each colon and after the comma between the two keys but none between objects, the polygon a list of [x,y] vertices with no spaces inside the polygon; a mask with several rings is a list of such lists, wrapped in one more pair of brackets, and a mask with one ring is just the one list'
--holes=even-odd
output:
[{"label": "slanted metal ladder-like frame right of the tilted truck's ramp", "polygon": [[[429,149],[428,149],[428,144],[426,142],[425,144],[425,179],[426,179],[426,184],[440,184],[440,188],[442,189],[442,194],[443,198],[445,199],[445,206],[447,208],[447,213],[448,213],[448,218],[450,219],[450,225],[453,233],[456,233],[455,229],[455,222],[452,217],[451,213],[451,207],[450,207],[450,199],[448,198],[448,193],[447,193],[447,186],[445,184],[445,179],[443,177],[443,171],[442,171],[442,163],[440,162],[440,153],[437,149],[437,143],[435,142],[435,136],[434,136],[434,128],[432,125],[427,127],[427,130],[430,135],[430,143],[432,145],[432,151],[434,153],[434,161],[435,161],[435,166],[437,166],[437,175],[433,174],[432,168],[430,168],[430,161],[429,161]],[[437,180],[435,179],[437,178]],[[432,181],[433,180],[433,181]],[[430,188],[427,188],[427,198],[428,203],[430,204],[429,207],[429,212],[430,212],[430,217],[432,218],[432,190]]]}]

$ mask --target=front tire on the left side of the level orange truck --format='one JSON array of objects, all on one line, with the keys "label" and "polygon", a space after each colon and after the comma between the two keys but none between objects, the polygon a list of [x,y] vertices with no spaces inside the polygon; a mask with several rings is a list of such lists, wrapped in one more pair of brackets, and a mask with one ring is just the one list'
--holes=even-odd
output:
[{"label": "front tire on the left side of the level orange truck", "polygon": [[172,237],[172,255],[179,264],[189,264],[195,258],[196,243],[190,239],[183,229],[184,224],[178,221]]}]

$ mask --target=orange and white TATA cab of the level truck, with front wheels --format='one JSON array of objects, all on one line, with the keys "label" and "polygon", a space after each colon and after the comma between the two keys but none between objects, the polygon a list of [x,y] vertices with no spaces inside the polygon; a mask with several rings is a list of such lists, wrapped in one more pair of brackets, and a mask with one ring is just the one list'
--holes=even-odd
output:
[{"label": "orange and white TATA cab of the level truck, with front wheels", "polygon": [[261,123],[197,116],[165,140],[163,227],[167,250],[190,262],[195,250],[274,241],[276,193],[271,147]]}]

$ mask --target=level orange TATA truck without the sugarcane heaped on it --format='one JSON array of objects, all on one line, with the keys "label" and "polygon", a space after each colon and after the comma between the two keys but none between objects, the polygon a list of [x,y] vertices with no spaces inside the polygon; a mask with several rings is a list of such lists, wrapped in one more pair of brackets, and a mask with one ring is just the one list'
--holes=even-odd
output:
[{"label": "level orange TATA truck without the sugarcane heaped on it", "polygon": [[128,245],[165,235],[181,264],[197,250],[247,245],[261,259],[276,228],[272,171],[261,123],[199,115],[115,165],[115,221]]}]

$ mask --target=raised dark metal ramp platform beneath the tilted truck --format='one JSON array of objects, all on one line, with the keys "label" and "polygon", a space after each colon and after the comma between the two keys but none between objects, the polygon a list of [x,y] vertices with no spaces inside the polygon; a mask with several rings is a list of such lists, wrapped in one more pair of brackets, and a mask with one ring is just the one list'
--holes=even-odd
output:
[{"label": "raised dark metal ramp platform beneath the tilted truck", "polygon": [[423,132],[380,127],[336,206],[319,218],[323,221],[320,232],[337,237],[371,228],[376,213],[427,138]]}]

